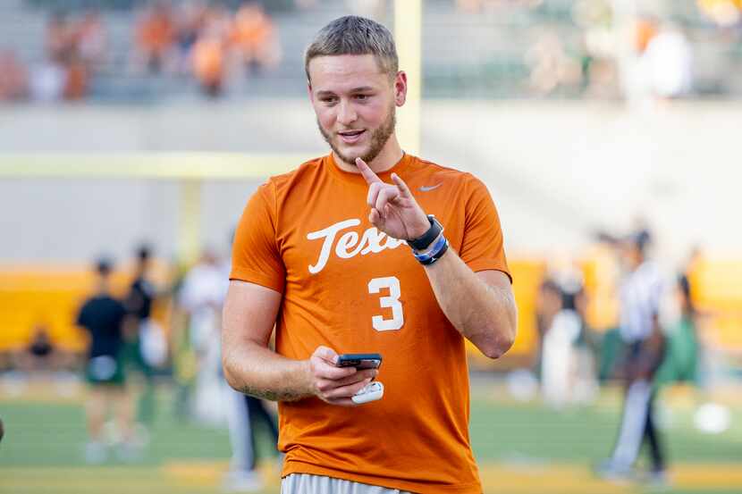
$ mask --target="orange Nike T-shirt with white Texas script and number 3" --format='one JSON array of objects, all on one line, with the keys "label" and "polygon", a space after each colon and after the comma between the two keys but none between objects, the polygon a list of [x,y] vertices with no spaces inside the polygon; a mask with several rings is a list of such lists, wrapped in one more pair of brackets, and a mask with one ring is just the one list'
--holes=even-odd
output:
[{"label": "orange Nike T-shirt with white Texas script and number 3", "polygon": [[[475,272],[508,265],[485,185],[404,155],[396,172],[451,248]],[[468,434],[464,339],[401,240],[368,222],[367,183],[333,155],[271,178],[250,198],[232,252],[232,280],[282,293],[276,351],[307,359],[324,345],[380,353],[384,398],[358,407],[319,398],[279,404],[282,475],[312,473],[423,493],[481,493]]]}]

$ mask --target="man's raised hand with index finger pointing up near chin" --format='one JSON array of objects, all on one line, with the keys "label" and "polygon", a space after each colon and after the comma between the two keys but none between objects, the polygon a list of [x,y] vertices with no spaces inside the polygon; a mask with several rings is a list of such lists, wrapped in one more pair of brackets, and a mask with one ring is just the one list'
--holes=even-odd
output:
[{"label": "man's raised hand with index finger pointing up near chin", "polygon": [[384,183],[362,159],[356,158],[356,165],[368,184],[368,221],[378,230],[393,239],[411,240],[430,228],[425,212],[399,175],[392,173],[393,184]]}]

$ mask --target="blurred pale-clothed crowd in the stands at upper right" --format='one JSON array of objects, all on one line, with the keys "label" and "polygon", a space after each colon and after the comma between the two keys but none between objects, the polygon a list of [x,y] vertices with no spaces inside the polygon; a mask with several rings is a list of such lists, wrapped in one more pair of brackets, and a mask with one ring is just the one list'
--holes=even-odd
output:
[{"label": "blurred pale-clothed crowd in the stands at upper right", "polygon": [[535,95],[571,92],[645,103],[692,94],[692,49],[678,24],[639,15],[628,22],[629,36],[619,42],[599,16],[583,21],[577,50],[549,29],[528,49],[529,87]]}]

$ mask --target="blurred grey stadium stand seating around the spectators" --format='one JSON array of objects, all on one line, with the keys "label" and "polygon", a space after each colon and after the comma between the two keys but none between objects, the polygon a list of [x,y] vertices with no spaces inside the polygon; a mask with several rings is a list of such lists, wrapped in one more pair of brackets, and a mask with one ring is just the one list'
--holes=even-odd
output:
[{"label": "blurred grey stadium stand seating around the spectators", "polygon": [[[0,47],[12,49],[30,67],[38,66],[43,60],[46,21],[55,9],[64,8],[79,14],[84,12],[82,6],[90,4],[109,6],[102,11],[109,54],[93,80],[90,98],[107,102],[147,102],[198,96],[198,84],[190,77],[132,71],[132,41],[141,3],[8,0],[0,5]],[[183,2],[173,2],[175,7],[181,4]],[[239,2],[225,4],[234,7]],[[385,4],[384,14],[384,21],[390,24],[391,4]],[[596,26],[599,28],[606,20],[600,17],[581,20],[578,6],[584,2],[550,0],[535,6],[490,4],[497,7],[466,12],[457,9],[451,0],[426,2],[424,96],[578,98],[594,93],[603,97],[618,96],[615,76],[603,75],[601,84],[610,88],[594,93],[586,93],[586,84],[581,81],[584,77],[579,76],[579,71],[585,77],[591,70],[605,72],[595,65],[595,56],[586,52],[586,37],[592,36]],[[650,4],[659,3],[647,5]],[[316,6],[299,9],[292,7],[290,2],[266,3],[278,28],[282,63],[259,77],[232,74],[227,94],[232,97],[302,96],[304,46],[326,21],[349,13],[348,5],[342,0],[325,0]],[[653,12],[652,9],[648,11]],[[742,70],[739,70],[742,44],[738,42],[737,31],[721,32],[698,11],[695,0],[673,2],[670,10],[662,12],[683,27],[693,46],[696,96],[733,95],[742,91]],[[451,43],[451,39],[457,42]],[[544,39],[557,40],[563,62],[575,73],[572,80],[562,81],[558,87],[542,94],[529,87],[529,75],[534,68],[529,65],[528,58]],[[467,49],[462,51],[460,46],[467,46]]]}]

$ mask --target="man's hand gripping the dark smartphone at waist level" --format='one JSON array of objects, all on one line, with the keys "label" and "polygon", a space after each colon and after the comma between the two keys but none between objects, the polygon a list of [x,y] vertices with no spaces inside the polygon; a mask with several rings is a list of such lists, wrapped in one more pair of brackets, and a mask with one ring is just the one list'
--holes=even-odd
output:
[{"label": "man's hand gripping the dark smartphone at waist level", "polygon": [[337,358],[338,354],[328,347],[317,347],[315,353],[309,357],[312,393],[331,405],[358,406],[350,397],[371,382],[378,371],[337,367]]}]

